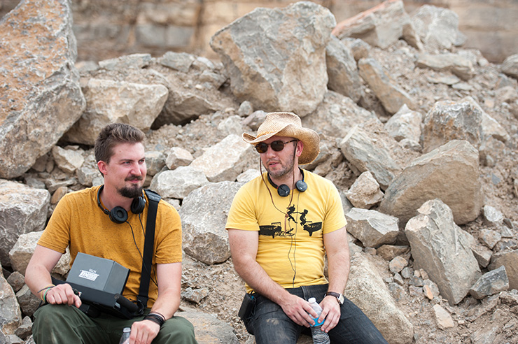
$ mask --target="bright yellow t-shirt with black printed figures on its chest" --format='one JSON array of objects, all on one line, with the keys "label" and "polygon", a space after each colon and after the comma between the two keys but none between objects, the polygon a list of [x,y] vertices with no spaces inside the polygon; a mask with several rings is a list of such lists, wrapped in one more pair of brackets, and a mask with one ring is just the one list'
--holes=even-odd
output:
[{"label": "bright yellow t-shirt with black printed figures on its chest", "polygon": [[[342,200],[335,185],[315,173],[304,171],[307,190],[292,190],[295,193],[289,204],[290,195],[279,196],[268,182],[266,173],[263,176],[274,204],[265,182],[261,177],[255,178],[237,192],[225,228],[259,231],[255,260],[282,287],[327,283],[323,274],[323,234],[346,225]],[[251,292],[248,285],[246,291]]]}]

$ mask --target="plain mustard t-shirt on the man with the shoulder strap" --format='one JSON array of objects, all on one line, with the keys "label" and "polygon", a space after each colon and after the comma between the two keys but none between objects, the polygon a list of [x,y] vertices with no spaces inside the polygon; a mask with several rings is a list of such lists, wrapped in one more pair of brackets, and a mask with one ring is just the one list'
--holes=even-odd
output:
[{"label": "plain mustard t-shirt on the man with the shoulder strap", "polygon": [[[82,252],[111,259],[129,268],[130,275],[123,296],[135,301],[140,287],[149,200],[146,196],[146,207],[140,218],[129,211],[127,221],[130,224],[116,224],[97,206],[98,190],[99,187],[91,187],[66,194],[57,203],[38,245],[62,253],[69,246],[70,265],[77,253]],[[180,216],[176,209],[160,200],[155,224],[151,273],[153,280],[156,281],[156,264],[182,261],[181,231]],[[157,296],[158,288],[150,281],[148,307],[153,306]]]}]

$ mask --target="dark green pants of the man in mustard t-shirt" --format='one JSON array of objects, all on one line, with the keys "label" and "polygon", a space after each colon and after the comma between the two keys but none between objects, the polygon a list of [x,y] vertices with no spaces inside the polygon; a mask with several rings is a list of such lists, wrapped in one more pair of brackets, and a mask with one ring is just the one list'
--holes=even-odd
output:
[{"label": "dark green pants of the man in mustard t-shirt", "polygon": [[[74,306],[45,305],[34,313],[32,334],[36,344],[117,344],[125,327],[143,319],[125,320],[104,313],[88,317]],[[153,344],[167,343],[196,344],[193,324],[183,317],[167,320]]]}]

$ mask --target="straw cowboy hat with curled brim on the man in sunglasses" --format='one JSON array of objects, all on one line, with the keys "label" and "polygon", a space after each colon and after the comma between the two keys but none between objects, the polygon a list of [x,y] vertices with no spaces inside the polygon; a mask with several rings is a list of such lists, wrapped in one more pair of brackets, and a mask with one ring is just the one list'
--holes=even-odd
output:
[{"label": "straw cowboy hat with curled brim on the man in sunglasses", "polygon": [[302,128],[300,117],[295,113],[268,113],[265,122],[257,129],[257,136],[243,134],[243,140],[251,145],[256,145],[272,136],[286,136],[297,138],[304,143],[299,164],[309,164],[320,152],[320,136],[316,131]]}]

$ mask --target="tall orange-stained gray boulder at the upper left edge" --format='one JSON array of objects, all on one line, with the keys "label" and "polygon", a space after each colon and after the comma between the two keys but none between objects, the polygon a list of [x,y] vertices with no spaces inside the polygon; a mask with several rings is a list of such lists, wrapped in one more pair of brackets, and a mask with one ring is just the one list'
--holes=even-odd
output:
[{"label": "tall orange-stained gray boulder at the upper left edge", "polygon": [[85,98],[70,1],[21,1],[1,18],[0,37],[0,178],[10,179],[57,143]]}]

